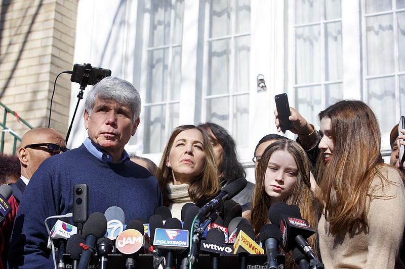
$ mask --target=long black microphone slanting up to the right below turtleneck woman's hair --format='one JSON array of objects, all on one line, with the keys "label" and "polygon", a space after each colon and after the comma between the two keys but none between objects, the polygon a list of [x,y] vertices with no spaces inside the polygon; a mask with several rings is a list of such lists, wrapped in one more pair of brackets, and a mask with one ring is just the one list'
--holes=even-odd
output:
[{"label": "long black microphone slanting up to the right below turtleneck woman's hair", "polygon": [[210,212],[217,208],[223,200],[232,199],[233,196],[245,189],[246,185],[248,185],[248,181],[246,181],[244,178],[238,178],[232,183],[226,185],[222,188],[221,193],[217,197],[206,203],[206,205],[198,210],[197,215],[206,216],[210,214]]}]

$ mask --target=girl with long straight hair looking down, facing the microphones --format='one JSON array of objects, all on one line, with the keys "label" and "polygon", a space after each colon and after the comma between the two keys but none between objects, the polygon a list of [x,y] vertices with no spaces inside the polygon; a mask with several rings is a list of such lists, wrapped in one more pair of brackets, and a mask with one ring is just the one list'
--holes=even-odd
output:
[{"label": "girl with long straight hair looking down, facing the microphones", "polygon": [[[242,214],[252,224],[256,239],[259,238],[260,229],[270,223],[268,210],[276,202],[299,206],[302,218],[316,229],[310,169],[306,152],[293,140],[280,139],[265,149],[255,171],[256,186],[251,209]],[[316,236],[312,235],[307,241],[317,251]],[[286,256],[286,268],[294,266],[294,258],[289,252]]]}]

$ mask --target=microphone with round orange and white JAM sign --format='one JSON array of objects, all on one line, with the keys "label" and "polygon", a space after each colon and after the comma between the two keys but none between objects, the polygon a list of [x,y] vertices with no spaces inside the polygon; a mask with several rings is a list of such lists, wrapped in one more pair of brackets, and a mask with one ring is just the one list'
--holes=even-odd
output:
[{"label": "microphone with round orange and white JAM sign", "polygon": [[[139,231],[141,230],[142,233]],[[120,233],[115,241],[116,248],[127,257],[125,266],[127,269],[135,268],[135,254],[143,246],[143,224],[138,220],[130,221],[127,229]]]}]

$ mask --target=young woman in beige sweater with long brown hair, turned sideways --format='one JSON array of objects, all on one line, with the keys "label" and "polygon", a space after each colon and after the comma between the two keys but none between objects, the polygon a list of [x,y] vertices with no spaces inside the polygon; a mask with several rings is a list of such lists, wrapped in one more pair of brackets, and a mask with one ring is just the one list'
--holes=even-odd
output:
[{"label": "young woman in beige sweater with long brown hair, turned sideways", "polygon": [[402,267],[403,177],[381,162],[376,116],[361,101],[343,100],[318,117],[322,262],[326,268]]}]

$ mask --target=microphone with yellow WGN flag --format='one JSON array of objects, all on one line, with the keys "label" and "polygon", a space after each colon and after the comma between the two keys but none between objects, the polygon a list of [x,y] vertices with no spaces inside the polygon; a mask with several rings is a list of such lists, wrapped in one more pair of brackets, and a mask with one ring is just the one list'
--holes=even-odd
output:
[{"label": "microphone with yellow WGN flag", "polygon": [[238,235],[233,243],[233,254],[239,255],[240,268],[247,268],[249,254],[263,254],[264,250],[255,240],[255,232],[247,219],[237,225]]}]

